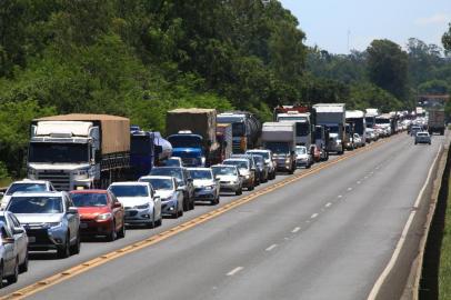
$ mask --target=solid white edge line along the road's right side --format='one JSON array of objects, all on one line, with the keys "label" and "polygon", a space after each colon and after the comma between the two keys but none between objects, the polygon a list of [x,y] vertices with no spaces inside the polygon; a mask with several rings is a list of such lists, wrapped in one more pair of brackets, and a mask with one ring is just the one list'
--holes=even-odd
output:
[{"label": "solid white edge line along the road's right side", "polygon": [[401,249],[402,249],[402,247],[404,246],[405,239],[407,239],[407,237],[408,237],[408,233],[409,233],[409,230],[410,230],[410,226],[412,224],[413,218],[415,217],[417,209],[418,209],[419,206],[420,206],[420,202],[421,202],[421,199],[423,198],[423,193],[424,193],[424,191],[425,191],[425,188],[428,187],[428,182],[429,182],[429,180],[431,179],[432,170],[433,170],[433,168],[435,167],[437,160],[439,159],[439,154],[440,154],[441,149],[442,149],[442,146],[440,144],[440,148],[439,148],[439,151],[437,152],[435,159],[433,160],[432,166],[431,166],[431,168],[429,169],[428,177],[427,177],[427,179],[425,179],[425,181],[424,181],[424,184],[423,184],[423,187],[421,188],[420,193],[418,194],[417,200],[415,200],[415,202],[414,202],[414,204],[413,204],[413,208],[414,208],[414,209],[410,212],[409,219],[408,219],[408,221],[407,221],[407,223],[405,223],[405,226],[404,226],[404,229],[402,230],[401,238],[399,239],[399,241],[398,241],[398,243],[397,243],[397,248],[394,249],[393,256],[391,257],[391,259],[390,259],[389,263],[387,264],[385,269],[384,269],[384,270],[382,271],[382,273],[379,276],[379,278],[378,278],[378,280],[375,281],[373,288],[371,289],[371,292],[370,292],[370,294],[368,296],[367,300],[374,300],[374,299],[377,299],[377,297],[378,297],[378,294],[379,294],[379,291],[380,291],[381,288],[382,288],[383,282],[387,280],[388,276],[390,274],[390,272],[391,272],[391,271],[393,270],[393,268],[394,268],[394,263],[397,262],[397,260],[398,260],[398,258],[399,258],[399,256],[400,256],[400,253],[401,253]]}]

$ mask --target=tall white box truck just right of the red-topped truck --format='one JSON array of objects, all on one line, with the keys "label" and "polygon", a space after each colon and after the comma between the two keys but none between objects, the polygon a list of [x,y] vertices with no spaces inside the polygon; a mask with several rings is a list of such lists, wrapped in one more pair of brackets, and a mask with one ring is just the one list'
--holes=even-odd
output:
[{"label": "tall white box truck just right of the red-topped truck", "polygon": [[342,154],[344,152],[344,103],[319,103],[313,109],[317,114],[317,124],[329,129],[329,152]]}]

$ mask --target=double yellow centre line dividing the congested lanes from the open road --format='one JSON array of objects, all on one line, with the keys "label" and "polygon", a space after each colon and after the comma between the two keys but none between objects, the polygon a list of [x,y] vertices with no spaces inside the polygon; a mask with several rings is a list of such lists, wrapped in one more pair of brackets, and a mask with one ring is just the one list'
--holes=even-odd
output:
[{"label": "double yellow centre line dividing the congested lanes from the open road", "polygon": [[[291,184],[293,182],[297,182],[297,181],[301,180],[302,178],[315,174],[315,173],[320,172],[323,169],[331,168],[332,166],[334,166],[334,164],[337,164],[337,163],[339,163],[339,162],[341,162],[343,160],[348,160],[350,158],[353,158],[353,157],[360,154],[360,152],[369,152],[372,149],[375,149],[378,147],[381,147],[381,146],[388,143],[390,140],[392,140],[392,139],[390,138],[390,139],[382,140],[382,141],[378,142],[378,143],[374,143],[374,144],[372,144],[370,147],[361,148],[361,149],[355,150],[353,152],[341,156],[340,158],[338,158],[335,160],[324,162],[322,164],[319,164],[318,167],[313,167],[309,171],[304,171],[304,172],[297,173],[297,174],[291,176],[291,177],[287,177],[287,178],[282,179],[279,182],[272,183],[269,187],[262,188],[262,189],[260,189],[258,191],[254,191],[254,192],[249,193],[247,196],[243,196],[243,197],[241,197],[239,199],[235,199],[235,200],[233,200],[233,201],[231,201],[231,202],[229,202],[229,203],[227,203],[227,204],[224,204],[222,207],[219,207],[218,209],[212,210],[212,211],[206,213],[204,216],[197,217],[197,218],[194,218],[192,220],[187,220],[184,223],[178,224],[178,226],[176,226],[176,227],[173,227],[171,229],[168,229],[167,231],[163,231],[163,232],[161,232],[159,234],[152,233],[148,238],[144,238],[144,239],[142,239],[142,240],[140,240],[138,242],[131,243],[129,246],[126,246],[124,248],[112,250],[111,252],[102,256],[102,257],[107,257],[107,258],[98,257],[98,258],[93,258],[93,259],[91,259],[89,261],[84,261],[84,262],[82,262],[82,263],[80,263],[78,266],[73,266],[73,267],[69,268],[68,270],[64,270],[63,272],[58,272],[58,273],[54,273],[53,276],[50,276],[50,277],[47,277],[47,278],[43,278],[43,279],[39,279],[37,282],[34,282],[32,284],[29,284],[29,286],[27,286],[27,287],[24,287],[22,289],[16,290],[16,291],[13,291],[13,292],[11,292],[9,294],[0,297],[0,299],[23,299],[26,297],[30,297],[32,294],[36,294],[37,292],[40,292],[40,291],[46,290],[46,289],[48,289],[50,287],[53,287],[53,286],[56,286],[58,283],[61,283],[61,282],[68,280],[68,279],[71,279],[71,278],[73,278],[76,276],[79,276],[81,273],[84,273],[84,272],[87,272],[87,271],[89,271],[91,269],[100,267],[100,266],[102,266],[102,264],[104,264],[107,262],[110,262],[112,260],[119,259],[119,258],[124,257],[127,254],[133,253],[133,252],[136,252],[138,250],[148,248],[148,247],[153,246],[156,243],[159,243],[159,242],[161,242],[163,240],[167,240],[167,239],[169,239],[169,238],[171,238],[173,236],[177,236],[177,234],[179,234],[179,233],[181,233],[183,231],[190,230],[191,228],[197,227],[197,226],[199,226],[201,223],[208,222],[209,220],[218,218],[219,216],[221,216],[221,214],[223,214],[223,213],[225,213],[225,212],[228,212],[228,211],[230,211],[230,210],[232,210],[232,209],[234,209],[237,207],[243,206],[243,204],[245,204],[245,203],[248,203],[250,201],[253,201],[253,200],[258,199],[262,194],[267,194],[267,193],[270,193],[270,192],[272,192],[274,190],[279,190],[279,189],[281,189],[281,188],[283,188],[283,187],[288,186],[288,184]],[[309,223],[310,220],[307,220],[305,222]]]}]

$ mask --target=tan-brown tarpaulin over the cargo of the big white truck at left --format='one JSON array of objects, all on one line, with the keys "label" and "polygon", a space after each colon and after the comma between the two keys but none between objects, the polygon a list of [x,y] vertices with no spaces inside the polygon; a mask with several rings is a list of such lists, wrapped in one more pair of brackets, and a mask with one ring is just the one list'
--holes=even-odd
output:
[{"label": "tan-brown tarpaulin over the cargo of the big white truck at left", "polygon": [[71,113],[44,117],[33,120],[40,121],[86,121],[100,126],[102,154],[130,151],[130,120],[109,114]]}]

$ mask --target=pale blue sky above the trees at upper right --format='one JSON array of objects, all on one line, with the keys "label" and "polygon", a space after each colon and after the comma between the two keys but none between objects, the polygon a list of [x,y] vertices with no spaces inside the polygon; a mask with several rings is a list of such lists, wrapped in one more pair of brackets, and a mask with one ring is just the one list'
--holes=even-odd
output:
[{"label": "pale blue sky above the trees at upper right", "polygon": [[[280,0],[298,18],[308,46],[362,51],[374,39],[405,47],[409,38],[442,47],[451,0]],[[349,40],[349,43],[348,43]],[[349,44],[349,47],[348,47]]]}]

